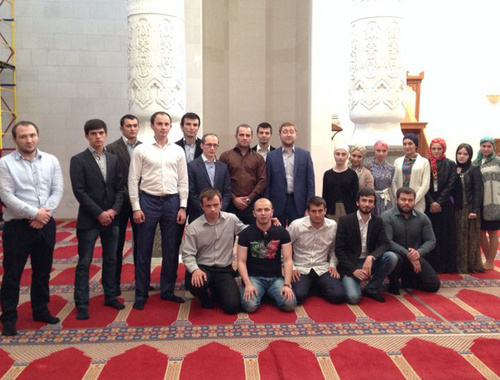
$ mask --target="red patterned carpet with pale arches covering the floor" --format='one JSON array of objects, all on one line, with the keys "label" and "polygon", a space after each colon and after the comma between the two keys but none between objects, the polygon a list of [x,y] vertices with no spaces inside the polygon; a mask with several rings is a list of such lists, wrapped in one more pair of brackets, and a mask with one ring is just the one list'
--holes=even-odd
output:
[{"label": "red patterned carpet with pale arches covering the floor", "polygon": [[[128,247],[130,248],[130,246]],[[2,248],[0,247],[0,255]],[[100,248],[91,271],[90,319],[73,304],[74,223],[58,227],[51,276],[60,325],[31,319],[30,270],[22,281],[18,329],[0,338],[2,379],[498,379],[500,261],[487,274],[443,275],[438,294],[388,295],[385,304],[330,305],[312,297],[293,313],[263,305],[228,316],[179,305],[152,292],[132,309],[133,266],[125,260],[117,311],[103,305]],[[0,256],[1,257],[1,256]],[[184,293],[179,268],[178,294]],[[0,269],[0,275],[2,274]],[[157,287],[159,268],[153,270]]]}]

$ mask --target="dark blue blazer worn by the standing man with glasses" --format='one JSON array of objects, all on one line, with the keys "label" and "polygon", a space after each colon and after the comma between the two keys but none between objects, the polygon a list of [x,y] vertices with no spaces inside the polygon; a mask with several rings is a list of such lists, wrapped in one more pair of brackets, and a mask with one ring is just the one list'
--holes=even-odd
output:
[{"label": "dark blue blazer worn by the standing man with glasses", "polygon": [[[188,176],[188,215],[189,223],[191,223],[203,214],[203,209],[200,205],[200,193],[207,187],[212,187],[203,158],[198,157],[188,164]],[[229,176],[227,165],[219,160],[215,161],[214,188],[221,192],[221,209],[222,211],[226,211],[229,203],[231,203],[231,177]]]}]

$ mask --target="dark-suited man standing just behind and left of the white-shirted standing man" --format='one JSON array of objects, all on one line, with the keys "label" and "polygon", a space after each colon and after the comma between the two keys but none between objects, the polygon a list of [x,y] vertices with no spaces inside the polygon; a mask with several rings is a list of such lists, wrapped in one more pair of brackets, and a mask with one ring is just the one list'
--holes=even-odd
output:
[{"label": "dark-suited man standing just behind and left of the white-shirted standing man", "polygon": [[133,258],[134,265],[137,255],[137,224],[134,222],[132,206],[130,205],[130,198],[128,196],[128,169],[130,166],[130,157],[135,147],[142,144],[137,140],[139,133],[139,120],[134,115],[125,115],[120,119],[120,132],[122,136],[109,144],[106,150],[113,153],[118,158],[118,164],[123,177],[123,205],[118,213],[118,245],[116,247],[116,291],[117,295],[121,294],[120,282],[122,276],[123,264],[123,246],[125,245],[125,236],[127,232],[127,225],[130,220],[132,226],[132,239],[133,239]]}]

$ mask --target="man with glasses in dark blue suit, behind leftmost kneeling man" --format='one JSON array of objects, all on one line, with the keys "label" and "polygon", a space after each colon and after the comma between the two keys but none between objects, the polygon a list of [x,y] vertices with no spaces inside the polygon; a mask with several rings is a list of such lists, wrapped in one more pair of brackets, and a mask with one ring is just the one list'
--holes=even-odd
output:
[{"label": "man with glasses in dark blue suit, behind leftmost kneeling man", "polygon": [[205,134],[201,139],[203,153],[188,164],[189,223],[203,214],[200,194],[208,188],[215,188],[222,194],[221,210],[226,211],[231,203],[231,177],[227,165],[216,159],[219,138],[213,133]]}]

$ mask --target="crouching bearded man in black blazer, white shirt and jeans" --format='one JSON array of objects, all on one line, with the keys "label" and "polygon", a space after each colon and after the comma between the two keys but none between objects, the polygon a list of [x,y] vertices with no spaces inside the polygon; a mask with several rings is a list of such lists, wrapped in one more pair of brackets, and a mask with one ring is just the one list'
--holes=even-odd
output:
[{"label": "crouching bearded man in black blazer, white shirt and jeans", "polygon": [[338,271],[347,302],[356,305],[361,300],[360,282],[368,281],[363,295],[385,302],[380,294],[384,279],[395,268],[398,258],[390,252],[382,218],[372,215],[376,195],[371,188],[358,191],[358,211],[340,218],[335,240]]}]

